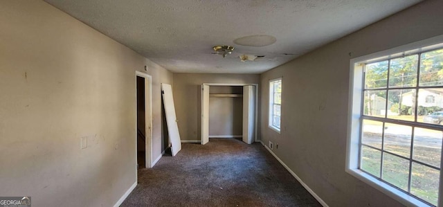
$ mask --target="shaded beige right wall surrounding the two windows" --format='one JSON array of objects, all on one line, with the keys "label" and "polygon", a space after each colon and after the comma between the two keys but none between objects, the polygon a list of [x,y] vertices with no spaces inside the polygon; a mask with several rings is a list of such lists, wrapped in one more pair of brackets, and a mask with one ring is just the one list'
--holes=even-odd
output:
[{"label": "shaded beige right wall surrounding the two windows", "polygon": [[[261,75],[262,141],[329,206],[401,206],[345,172],[350,59],[443,34],[443,1],[424,1]],[[282,78],[282,132],[267,126]]]}]

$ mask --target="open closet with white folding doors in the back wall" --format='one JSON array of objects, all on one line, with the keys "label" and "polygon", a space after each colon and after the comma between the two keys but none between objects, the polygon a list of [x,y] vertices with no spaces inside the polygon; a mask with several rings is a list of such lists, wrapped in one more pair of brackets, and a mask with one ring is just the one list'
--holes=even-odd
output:
[{"label": "open closet with white folding doors in the back wall", "polygon": [[[257,141],[257,93],[258,84],[202,84],[201,144],[209,138],[242,138],[248,144]],[[218,117],[210,119],[210,114]],[[214,123],[217,121],[220,123]]]}]

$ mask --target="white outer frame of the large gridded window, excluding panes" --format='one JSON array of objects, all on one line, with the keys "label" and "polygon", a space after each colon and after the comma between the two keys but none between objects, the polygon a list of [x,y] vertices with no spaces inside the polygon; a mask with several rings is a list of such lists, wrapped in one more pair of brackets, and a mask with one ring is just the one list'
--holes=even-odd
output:
[{"label": "white outer frame of the large gridded window, excluding panes", "polygon": [[[350,90],[347,120],[347,152],[345,171],[369,186],[380,190],[384,194],[396,199],[406,206],[429,206],[423,201],[398,190],[389,184],[376,179],[359,169],[359,142],[361,133],[361,101],[363,96],[363,67],[369,62],[379,62],[395,57],[431,51],[443,47],[443,35],[425,39],[419,42],[406,44],[387,51],[381,51],[350,60]],[[442,151],[443,154],[443,151]],[[443,158],[443,155],[442,155]],[[442,162],[443,166],[443,162]],[[443,207],[443,173],[440,172],[440,189],[437,206]]]}]

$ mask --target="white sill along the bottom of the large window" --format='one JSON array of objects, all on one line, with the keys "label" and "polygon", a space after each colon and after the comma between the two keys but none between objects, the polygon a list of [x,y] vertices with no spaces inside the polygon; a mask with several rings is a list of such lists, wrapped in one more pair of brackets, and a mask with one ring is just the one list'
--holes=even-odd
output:
[{"label": "white sill along the bottom of the large window", "polygon": [[424,203],[423,201],[420,201],[419,199],[416,199],[415,197],[407,195],[406,193],[402,192],[401,190],[398,190],[397,188],[394,188],[394,187],[384,183],[383,181],[379,181],[378,179],[370,176],[369,174],[366,174],[365,172],[363,172],[359,169],[346,169],[346,172],[349,174],[352,174],[352,176],[354,176],[357,179],[372,186],[372,188],[380,190],[381,192],[388,195],[389,197],[396,199],[401,204],[404,204],[406,206],[433,207],[433,206],[430,206],[430,205]]}]

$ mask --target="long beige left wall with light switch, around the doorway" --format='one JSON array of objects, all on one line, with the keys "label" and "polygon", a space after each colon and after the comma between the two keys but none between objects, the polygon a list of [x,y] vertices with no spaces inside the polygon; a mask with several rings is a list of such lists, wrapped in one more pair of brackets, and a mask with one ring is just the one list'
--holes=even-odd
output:
[{"label": "long beige left wall with light switch, around the doorway", "polygon": [[154,158],[172,73],[43,1],[0,1],[0,25],[0,195],[113,206],[136,182],[135,70],[154,82]]}]

